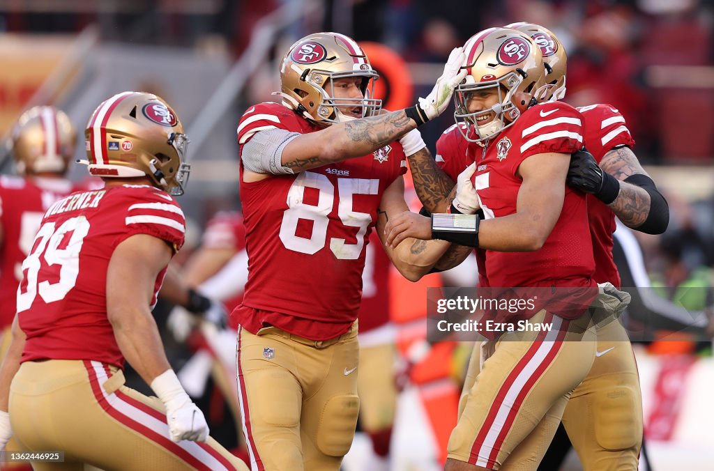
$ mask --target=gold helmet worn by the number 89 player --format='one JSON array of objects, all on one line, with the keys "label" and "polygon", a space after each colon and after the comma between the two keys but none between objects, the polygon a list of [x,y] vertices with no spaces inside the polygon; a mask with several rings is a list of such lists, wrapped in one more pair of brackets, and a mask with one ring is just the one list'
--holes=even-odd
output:
[{"label": "gold helmet worn by the number 89 player", "polygon": [[89,173],[102,178],[149,176],[154,186],[182,195],[191,166],[188,138],[166,101],[125,91],[102,102],[84,131]]}]

